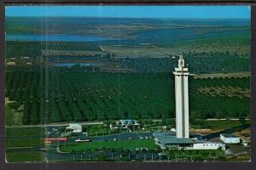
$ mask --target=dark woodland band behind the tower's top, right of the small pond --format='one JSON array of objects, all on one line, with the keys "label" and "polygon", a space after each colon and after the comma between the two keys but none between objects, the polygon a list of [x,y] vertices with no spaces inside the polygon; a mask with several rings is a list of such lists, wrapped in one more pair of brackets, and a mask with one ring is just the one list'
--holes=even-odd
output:
[{"label": "dark woodland band behind the tower's top, right of the small pond", "polygon": [[[230,53],[183,54],[191,72],[250,71],[250,58]],[[177,59],[170,58],[126,58],[119,59],[120,66],[143,72],[173,71]]]}]

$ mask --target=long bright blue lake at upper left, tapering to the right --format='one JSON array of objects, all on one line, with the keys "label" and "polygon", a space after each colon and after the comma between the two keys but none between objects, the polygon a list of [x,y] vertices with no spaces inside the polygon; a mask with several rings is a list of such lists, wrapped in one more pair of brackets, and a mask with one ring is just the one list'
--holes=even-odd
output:
[{"label": "long bright blue lake at upper left, tapering to the right", "polygon": [[26,42],[97,42],[117,39],[111,37],[96,37],[67,34],[12,34],[6,35],[6,40]]}]

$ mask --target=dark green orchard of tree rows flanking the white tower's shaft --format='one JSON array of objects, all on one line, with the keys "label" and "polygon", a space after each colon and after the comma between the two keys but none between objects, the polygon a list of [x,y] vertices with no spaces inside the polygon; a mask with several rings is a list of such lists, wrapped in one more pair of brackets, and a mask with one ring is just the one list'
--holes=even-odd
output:
[{"label": "dark green orchard of tree rows flanking the white tower's shaft", "polygon": [[[250,99],[207,96],[197,88],[249,88],[249,78],[189,80],[189,107],[195,118],[247,116]],[[23,123],[173,118],[175,94],[170,73],[103,73],[68,69],[9,68],[6,97],[24,109]],[[23,106],[23,107],[22,107]]]}]

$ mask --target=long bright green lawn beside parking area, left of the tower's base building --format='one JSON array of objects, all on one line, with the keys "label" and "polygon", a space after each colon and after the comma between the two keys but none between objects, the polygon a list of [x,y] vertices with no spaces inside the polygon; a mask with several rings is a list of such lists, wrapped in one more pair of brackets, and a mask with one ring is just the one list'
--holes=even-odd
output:
[{"label": "long bright green lawn beside parking area, left of the tower's base building", "polygon": [[154,144],[152,139],[133,139],[133,140],[123,140],[123,141],[104,141],[104,142],[89,142],[82,144],[70,144],[66,147],[61,146],[61,151],[71,152],[72,150],[81,151],[81,150],[101,150],[102,148],[114,148],[119,149],[123,148],[124,150],[135,150],[136,148],[148,148],[156,149],[158,146]]}]

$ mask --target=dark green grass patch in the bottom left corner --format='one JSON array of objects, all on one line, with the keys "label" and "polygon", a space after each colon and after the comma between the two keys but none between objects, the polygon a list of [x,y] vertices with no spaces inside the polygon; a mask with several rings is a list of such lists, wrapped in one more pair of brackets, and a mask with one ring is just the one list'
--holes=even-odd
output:
[{"label": "dark green grass patch in the bottom left corner", "polygon": [[42,153],[26,150],[7,151],[6,159],[8,162],[38,162],[42,161]]}]

